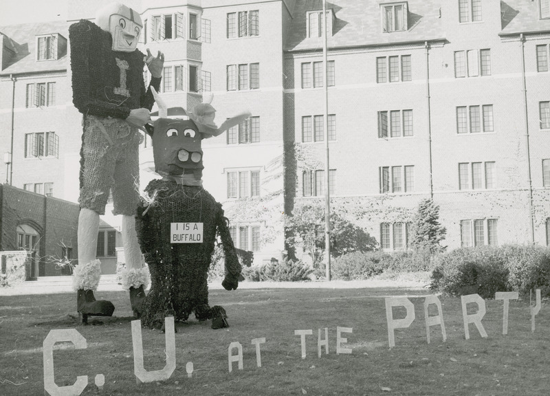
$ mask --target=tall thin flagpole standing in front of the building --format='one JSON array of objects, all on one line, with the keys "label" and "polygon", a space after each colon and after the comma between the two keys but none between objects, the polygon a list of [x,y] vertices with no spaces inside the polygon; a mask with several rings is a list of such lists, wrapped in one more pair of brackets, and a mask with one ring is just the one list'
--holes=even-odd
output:
[{"label": "tall thin flagpole standing in front of the building", "polygon": [[323,63],[323,87],[325,89],[325,116],[323,117],[323,131],[325,132],[325,256],[327,259],[327,281],[331,280],[331,223],[330,223],[330,168],[329,168],[329,79],[327,76],[327,0],[322,0],[322,63]]}]

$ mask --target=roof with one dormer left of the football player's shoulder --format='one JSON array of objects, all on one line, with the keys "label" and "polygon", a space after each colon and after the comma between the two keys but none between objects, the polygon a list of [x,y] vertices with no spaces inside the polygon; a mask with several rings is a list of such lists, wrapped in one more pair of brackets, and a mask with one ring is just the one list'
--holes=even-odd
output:
[{"label": "roof with one dormer left of the football player's shoulder", "polygon": [[[36,61],[36,36],[46,34],[61,34],[65,39],[69,36],[69,28],[65,21],[45,23],[23,23],[0,27],[4,46],[11,45],[14,55],[0,74],[22,74],[36,72],[52,72],[66,70],[69,66],[67,54],[54,61]],[[8,44],[10,43],[10,44]]]}]

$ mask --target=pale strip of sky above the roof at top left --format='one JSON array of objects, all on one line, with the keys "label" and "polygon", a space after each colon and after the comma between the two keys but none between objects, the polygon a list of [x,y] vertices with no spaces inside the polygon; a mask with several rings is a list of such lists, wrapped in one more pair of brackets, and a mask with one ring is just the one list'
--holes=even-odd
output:
[{"label": "pale strip of sky above the roof at top left", "polygon": [[1,0],[0,26],[66,20],[67,1],[70,0]]}]

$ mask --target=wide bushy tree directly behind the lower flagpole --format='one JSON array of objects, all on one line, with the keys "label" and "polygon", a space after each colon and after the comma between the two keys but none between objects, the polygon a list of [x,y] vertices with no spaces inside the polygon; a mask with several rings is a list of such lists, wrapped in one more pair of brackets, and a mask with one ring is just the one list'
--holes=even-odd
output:
[{"label": "wide bushy tree directly behind the lower flagpole", "polygon": [[[375,249],[376,239],[358,225],[336,212],[331,212],[330,221],[331,256]],[[302,245],[317,268],[325,252],[325,208],[319,203],[296,206],[292,215],[285,217],[285,234],[287,245],[291,248]]]}]

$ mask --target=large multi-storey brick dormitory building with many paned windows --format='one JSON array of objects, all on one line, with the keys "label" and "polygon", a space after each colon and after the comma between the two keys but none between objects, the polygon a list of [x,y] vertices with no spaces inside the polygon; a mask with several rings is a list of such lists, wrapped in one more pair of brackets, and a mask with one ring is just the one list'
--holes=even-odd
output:
[{"label": "large multi-storey brick dormitory building with many paned windows", "polygon": [[[283,214],[324,199],[322,1],[125,3],[144,21],[140,49],[165,54],[168,106],[212,100],[218,123],[251,111],[203,141],[203,181],[236,246],[255,263],[278,257]],[[0,179],[12,188],[78,199],[67,31],[100,4],[70,1],[67,21],[0,28]],[[333,210],[390,251],[407,248],[428,197],[449,248],[550,243],[550,0],[332,0],[327,47]],[[148,138],[140,162],[144,188],[155,178]],[[107,263],[120,235],[103,220]],[[21,248],[21,224],[10,224],[1,250]]]}]

